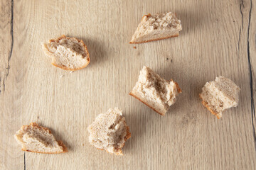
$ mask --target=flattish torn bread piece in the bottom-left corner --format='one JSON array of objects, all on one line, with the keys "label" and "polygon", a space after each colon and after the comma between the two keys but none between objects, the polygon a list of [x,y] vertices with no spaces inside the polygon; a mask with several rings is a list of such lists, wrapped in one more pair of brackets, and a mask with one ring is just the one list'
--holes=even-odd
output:
[{"label": "flattish torn bread piece in the bottom-left corner", "polygon": [[22,146],[23,151],[42,154],[60,154],[68,152],[67,147],[61,141],[56,141],[48,128],[36,123],[23,125],[14,135]]}]

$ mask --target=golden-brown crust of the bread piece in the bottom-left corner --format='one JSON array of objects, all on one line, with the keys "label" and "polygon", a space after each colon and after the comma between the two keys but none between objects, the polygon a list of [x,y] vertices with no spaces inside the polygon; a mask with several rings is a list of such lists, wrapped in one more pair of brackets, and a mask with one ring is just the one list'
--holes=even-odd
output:
[{"label": "golden-brown crust of the bread piece in the bottom-left corner", "polygon": [[[47,132],[49,132],[50,134],[52,134],[52,132],[46,128],[46,127],[43,127],[43,126],[39,126],[37,123],[30,123],[29,125],[23,125],[21,127],[21,129],[24,129],[24,128],[28,128],[32,126],[33,128],[38,128],[38,129],[41,129],[41,130],[46,130]],[[24,147],[21,148],[21,150],[23,151],[26,151],[26,152],[33,152],[33,153],[40,153],[40,154],[60,154],[60,153],[65,153],[65,152],[68,152],[68,149],[67,147],[63,144],[63,142],[61,140],[57,141],[58,142],[58,145],[60,145],[61,147],[63,147],[63,152],[35,152],[35,151],[31,151],[31,150],[28,150]]]}]

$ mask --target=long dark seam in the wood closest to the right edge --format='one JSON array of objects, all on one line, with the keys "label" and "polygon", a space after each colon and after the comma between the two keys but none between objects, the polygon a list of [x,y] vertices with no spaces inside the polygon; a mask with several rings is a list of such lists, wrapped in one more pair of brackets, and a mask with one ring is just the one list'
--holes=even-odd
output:
[{"label": "long dark seam in the wood closest to the right edge", "polygon": [[247,30],[247,57],[248,57],[248,65],[249,65],[249,77],[250,77],[250,95],[251,95],[251,111],[252,111],[252,130],[253,130],[253,138],[255,142],[255,150],[256,150],[256,134],[255,134],[255,103],[253,98],[253,79],[252,79],[252,64],[250,62],[250,21],[252,15],[252,0],[250,0],[250,11],[249,11],[249,21],[248,21],[248,30]]}]

